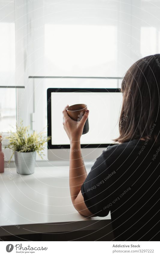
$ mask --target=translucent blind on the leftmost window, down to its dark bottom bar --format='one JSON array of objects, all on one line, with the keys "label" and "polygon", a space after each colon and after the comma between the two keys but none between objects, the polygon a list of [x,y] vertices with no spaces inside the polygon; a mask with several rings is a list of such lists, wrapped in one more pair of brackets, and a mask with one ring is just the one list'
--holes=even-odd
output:
[{"label": "translucent blind on the leftmost window, down to its dark bottom bar", "polygon": [[15,18],[14,1],[0,1],[0,86],[15,86]]}]

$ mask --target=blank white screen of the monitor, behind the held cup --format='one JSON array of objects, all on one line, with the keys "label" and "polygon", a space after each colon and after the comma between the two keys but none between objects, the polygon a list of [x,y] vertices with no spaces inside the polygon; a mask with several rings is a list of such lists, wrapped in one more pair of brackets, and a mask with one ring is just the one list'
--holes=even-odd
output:
[{"label": "blank white screen of the monitor, behind the held cup", "polygon": [[109,92],[52,92],[52,145],[69,144],[62,124],[62,110],[84,103],[89,109],[89,132],[81,136],[81,144],[110,144],[118,137],[118,119],[122,103],[121,93]]}]

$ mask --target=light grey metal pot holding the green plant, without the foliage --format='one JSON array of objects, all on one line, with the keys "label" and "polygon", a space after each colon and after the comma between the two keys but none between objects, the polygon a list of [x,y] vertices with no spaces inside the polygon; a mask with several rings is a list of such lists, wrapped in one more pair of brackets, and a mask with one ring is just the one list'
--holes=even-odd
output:
[{"label": "light grey metal pot holding the green plant, without the foliage", "polygon": [[35,171],[36,151],[34,152],[14,152],[17,173],[32,174]]}]

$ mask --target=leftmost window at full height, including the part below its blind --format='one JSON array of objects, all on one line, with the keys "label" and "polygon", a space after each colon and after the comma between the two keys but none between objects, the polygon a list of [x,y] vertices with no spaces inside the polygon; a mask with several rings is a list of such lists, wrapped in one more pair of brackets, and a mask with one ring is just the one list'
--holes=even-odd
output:
[{"label": "leftmost window at full height, including the part below its blind", "polygon": [[14,1],[0,1],[0,132],[16,123]]}]

